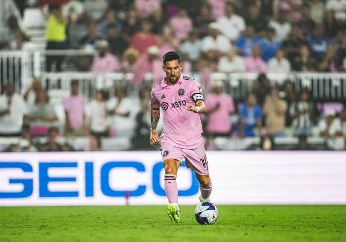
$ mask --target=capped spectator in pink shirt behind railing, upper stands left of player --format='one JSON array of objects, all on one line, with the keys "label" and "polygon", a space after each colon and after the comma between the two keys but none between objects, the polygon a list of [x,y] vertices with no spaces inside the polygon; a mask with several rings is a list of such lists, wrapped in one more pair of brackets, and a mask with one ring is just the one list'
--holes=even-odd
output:
[{"label": "capped spectator in pink shirt behind railing, upper stands left of player", "polygon": [[90,71],[93,72],[117,72],[121,69],[121,64],[115,55],[109,51],[107,40],[101,40],[98,44],[99,55],[94,56]]}]

